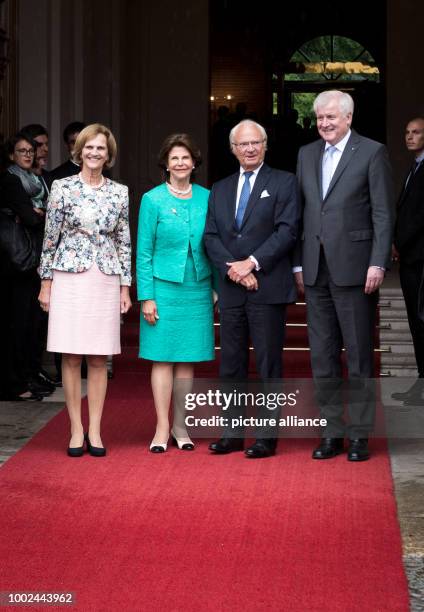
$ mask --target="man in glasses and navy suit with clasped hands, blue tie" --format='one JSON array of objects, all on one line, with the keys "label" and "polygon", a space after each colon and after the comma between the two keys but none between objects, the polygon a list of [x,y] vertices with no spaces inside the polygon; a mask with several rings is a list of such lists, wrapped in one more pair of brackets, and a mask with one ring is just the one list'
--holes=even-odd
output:
[{"label": "man in glasses and navy suit with clasped hands, blue tie", "polygon": [[[209,200],[204,239],[220,277],[223,379],[247,379],[249,337],[261,379],[282,376],[285,306],[295,300],[290,253],[299,210],[296,178],[264,164],[266,144],[261,125],[237,124],[230,146],[240,171],[215,183]],[[227,429],[209,448],[218,454],[243,450],[243,439],[234,433]],[[258,435],[246,455],[268,457],[275,448],[276,438]]]}]

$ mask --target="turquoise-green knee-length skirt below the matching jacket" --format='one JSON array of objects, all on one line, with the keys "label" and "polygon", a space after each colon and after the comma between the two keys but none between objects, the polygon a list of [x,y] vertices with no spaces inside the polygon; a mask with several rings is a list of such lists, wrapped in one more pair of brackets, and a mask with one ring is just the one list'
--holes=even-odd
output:
[{"label": "turquoise-green knee-length skirt below the matching jacket", "polygon": [[153,281],[159,319],[149,325],[141,313],[139,357],[177,363],[215,359],[211,277],[196,280],[189,254],[182,283]]}]

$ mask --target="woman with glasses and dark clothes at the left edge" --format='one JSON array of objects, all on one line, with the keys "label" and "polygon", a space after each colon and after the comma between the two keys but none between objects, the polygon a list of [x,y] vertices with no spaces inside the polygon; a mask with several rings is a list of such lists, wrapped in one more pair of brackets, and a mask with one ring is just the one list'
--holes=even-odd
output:
[{"label": "woman with glasses and dark clothes at the left edge", "polygon": [[18,132],[5,145],[7,168],[0,176],[0,223],[6,221],[3,215],[9,215],[22,224],[31,237],[34,251],[34,265],[25,271],[16,269],[5,252],[0,260],[3,293],[0,308],[3,329],[1,397],[13,401],[40,401],[52,391],[37,380],[38,372],[32,370],[38,335],[36,268],[44,223],[44,189],[32,172],[35,150],[36,143]]}]

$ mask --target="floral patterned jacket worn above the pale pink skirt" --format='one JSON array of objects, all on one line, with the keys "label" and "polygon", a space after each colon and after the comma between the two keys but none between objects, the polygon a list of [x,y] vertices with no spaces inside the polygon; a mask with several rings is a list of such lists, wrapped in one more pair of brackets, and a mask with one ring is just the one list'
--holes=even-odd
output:
[{"label": "floral patterned jacket worn above the pale pink skirt", "polygon": [[100,188],[79,175],[54,181],[47,203],[39,274],[84,272],[93,262],[104,274],[119,274],[131,285],[128,187],[105,179]]}]

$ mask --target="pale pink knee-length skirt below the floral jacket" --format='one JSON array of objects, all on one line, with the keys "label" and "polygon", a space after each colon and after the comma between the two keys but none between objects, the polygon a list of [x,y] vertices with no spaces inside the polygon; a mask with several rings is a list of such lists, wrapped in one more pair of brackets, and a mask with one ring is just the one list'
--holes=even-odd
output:
[{"label": "pale pink knee-length skirt below the floral jacket", "polygon": [[120,342],[120,279],[93,263],[86,272],[53,271],[47,350],[115,355]]}]

